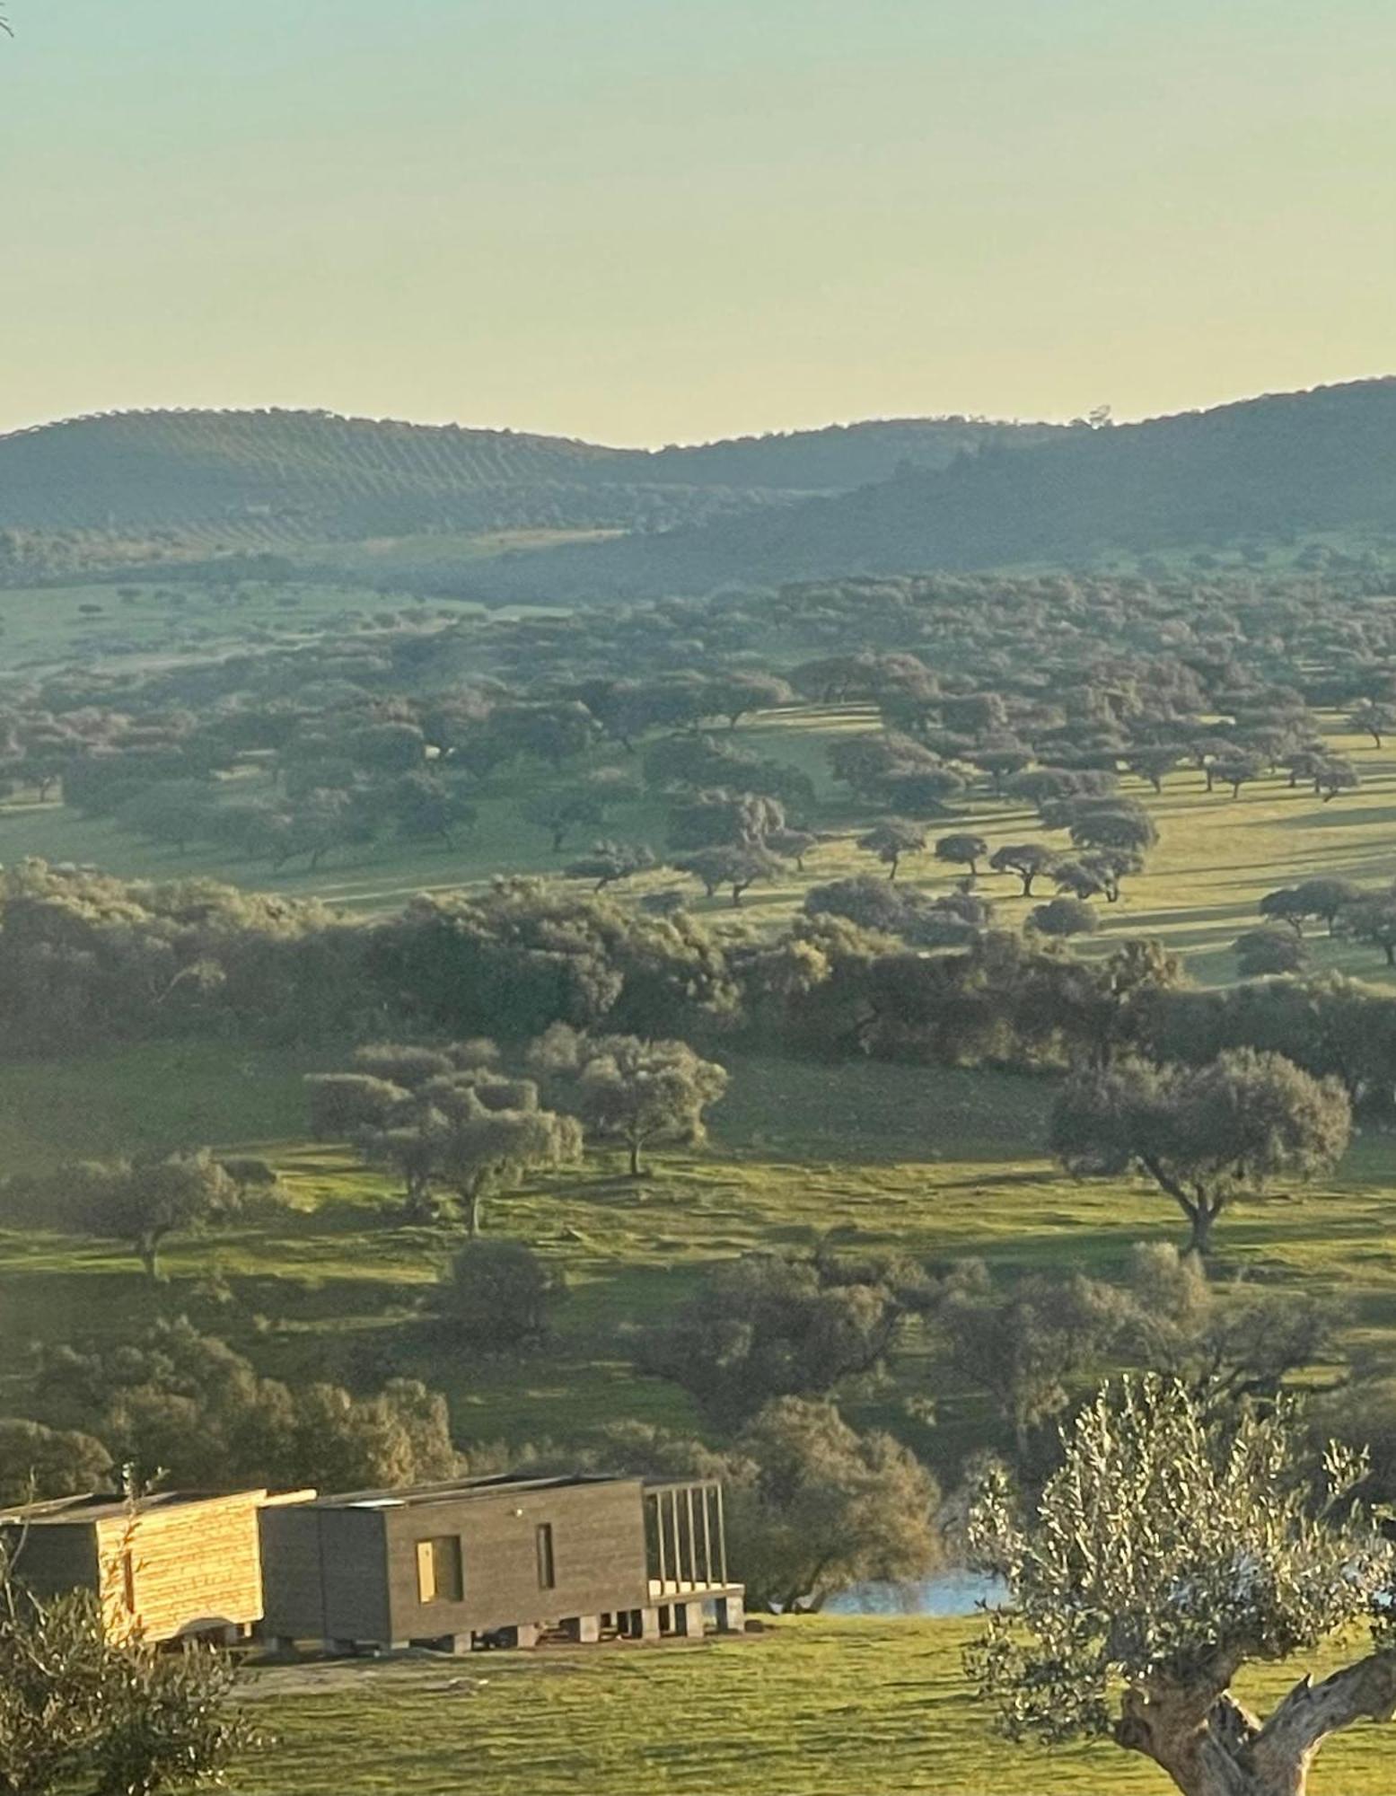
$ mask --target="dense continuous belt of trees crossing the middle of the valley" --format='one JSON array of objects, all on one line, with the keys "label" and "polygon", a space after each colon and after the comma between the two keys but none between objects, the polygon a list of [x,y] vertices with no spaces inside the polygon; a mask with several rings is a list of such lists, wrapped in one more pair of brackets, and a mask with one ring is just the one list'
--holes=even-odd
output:
[{"label": "dense continuous belt of trees crossing the middle of the valley", "polygon": [[535,878],[348,920],[212,880],[154,885],[29,862],[0,876],[0,1047],[413,1033],[517,1043],[554,1024],[1025,1069],[1252,1047],[1333,1074],[1367,1114],[1392,1103],[1387,988],[1278,975],[1206,990],[1157,943],[1080,959],[1046,934],[992,927],[928,952],[824,909],[829,891],[815,887],[806,914],[761,938]]}]

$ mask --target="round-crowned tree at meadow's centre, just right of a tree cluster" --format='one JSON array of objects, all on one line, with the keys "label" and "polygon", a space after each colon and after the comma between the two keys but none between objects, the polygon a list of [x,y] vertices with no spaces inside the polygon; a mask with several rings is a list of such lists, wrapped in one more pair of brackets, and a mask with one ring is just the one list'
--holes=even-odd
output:
[{"label": "round-crowned tree at meadow's centre, just right of a tree cluster", "polygon": [[535,1043],[533,1061],[560,1083],[589,1133],[626,1144],[632,1178],[651,1142],[702,1142],[703,1112],[727,1090],[727,1069],[687,1042],[592,1038],[558,1024]]}]

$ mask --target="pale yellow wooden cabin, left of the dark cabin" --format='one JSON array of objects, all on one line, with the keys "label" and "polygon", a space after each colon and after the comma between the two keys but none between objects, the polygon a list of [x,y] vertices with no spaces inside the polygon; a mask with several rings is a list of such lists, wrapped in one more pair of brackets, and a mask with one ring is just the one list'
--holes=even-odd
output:
[{"label": "pale yellow wooden cabin, left of the dark cabin", "polygon": [[0,1534],[20,1584],[92,1591],[111,1636],[235,1640],[262,1618],[262,1510],[309,1496],[68,1496],[0,1512]]}]

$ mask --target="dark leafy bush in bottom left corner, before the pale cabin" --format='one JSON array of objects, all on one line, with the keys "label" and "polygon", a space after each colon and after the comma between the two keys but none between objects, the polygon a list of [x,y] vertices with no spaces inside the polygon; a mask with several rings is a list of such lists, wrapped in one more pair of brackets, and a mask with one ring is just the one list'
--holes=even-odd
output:
[{"label": "dark leafy bush in bottom left corner, before the pale cabin", "polygon": [[214,1652],[108,1638],[90,1593],[34,1602],[0,1557],[4,1796],[158,1796],[221,1782],[251,1744],[228,1704],[231,1681]]}]

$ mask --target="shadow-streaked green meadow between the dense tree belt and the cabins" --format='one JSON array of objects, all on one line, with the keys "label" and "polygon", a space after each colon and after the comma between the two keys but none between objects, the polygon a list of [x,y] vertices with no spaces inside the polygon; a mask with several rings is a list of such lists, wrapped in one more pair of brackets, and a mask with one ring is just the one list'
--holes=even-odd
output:
[{"label": "shadow-streaked green meadow between the dense tree belt and the cabins", "polygon": [[[154,1288],[111,1243],[0,1234],[0,1394],[22,1376],[29,1340],[115,1342],[153,1315],[188,1311],[276,1376],[420,1376],[447,1392],[467,1444],[565,1442],[619,1417],[693,1430],[687,1395],[637,1372],[633,1331],[662,1322],[716,1259],[809,1246],[836,1228],[859,1246],[935,1261],[1118,1273],[1132,1243],[1181,1234],[1148,1187],[1078,1185],[1044,1158],[1044,1079],[732,1060],[711,1151],[660,1155],[639,1182],[617,1155],[592,1153],[581,1173],[493,1203],[490,1227],[563,1270],[569,1297],[549,1351],[479,1360],[443,1345],[422,1315],[458,1236],[404,1228],[388,1180],[300,1139],[305,1063],[221,1052],[0,1069],[11,1164],[52,1162],[59,1146],[111,1151],[140,1126],[151,1144],[257,1144],[294,1198],[255,1228],[172,1243]],[[1322,1187],[1227,1214],[1218,1272],[1340,1295],[1353,1340],[1396,1349],[1392,1187],[1396,1144],[1362,1137]],[[895,1378],[851,1413],[892,1426],[946,1476],[992,1433],[976,1395],[931,1379],[915,1336]]]}]

